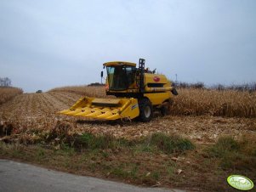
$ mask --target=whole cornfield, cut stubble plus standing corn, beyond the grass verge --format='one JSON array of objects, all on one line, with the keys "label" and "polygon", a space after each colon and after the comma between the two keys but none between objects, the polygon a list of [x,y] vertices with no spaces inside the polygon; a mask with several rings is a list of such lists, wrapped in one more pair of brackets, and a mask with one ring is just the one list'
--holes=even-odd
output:
[{"label": "whole cornfield, cut stubble plus standing corn, beyond the grass verge", "polygon": [[[178,91],[171,108],[172,116],[157,117],[156,114],[149,123],[132,121],[126,124],[56,114],[69,108],[82,95],[106,97],[104,87],[77,86],[55,88],[48,93],[20,94],[0,105],[1,140],[33,144],[52,138],[56,127],[60,132],[65,127],[63,134],[67,138],[75,133],[94,133],[134,139],[161,132],[177,133],[200,142],[214,142],[222,134],[255,134],[255,93],[204,89]],[[225,116],[253,118],[223,118]],[[54,143],[58,144],[64,138],[63,134],[54,136]]]}]

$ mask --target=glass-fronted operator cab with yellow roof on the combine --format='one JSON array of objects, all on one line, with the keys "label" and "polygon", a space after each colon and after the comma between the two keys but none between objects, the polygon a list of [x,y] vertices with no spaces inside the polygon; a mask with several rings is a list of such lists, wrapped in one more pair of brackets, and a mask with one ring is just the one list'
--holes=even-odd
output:
[{"label": "glass-fronted operator cab with yellow roof on the combine", "polygon": [[110,91],[128,89],[133,83],[136,73],[136,64],[122,61],[105,63],[107,80]]}]

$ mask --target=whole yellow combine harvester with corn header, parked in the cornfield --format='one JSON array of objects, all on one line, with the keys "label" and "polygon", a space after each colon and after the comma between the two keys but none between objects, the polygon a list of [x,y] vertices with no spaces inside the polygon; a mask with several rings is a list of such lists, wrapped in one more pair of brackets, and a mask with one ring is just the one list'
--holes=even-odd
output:
[{"label": "whole yellow combine harvester with corn header, parked in the cornfield", "polygon": [[85,96],[60,114],[105,120],[138,117],[146,122],[151,121],[154,110],[160,110],[162,115],[168,113],[171,99],[178,93],[166,76],[145,69],[145,59],[139,59],[139,68],[134,63],[123,61],[108,62],[103,66],[107,71],[105,93],[115,95],[117,99]]}]

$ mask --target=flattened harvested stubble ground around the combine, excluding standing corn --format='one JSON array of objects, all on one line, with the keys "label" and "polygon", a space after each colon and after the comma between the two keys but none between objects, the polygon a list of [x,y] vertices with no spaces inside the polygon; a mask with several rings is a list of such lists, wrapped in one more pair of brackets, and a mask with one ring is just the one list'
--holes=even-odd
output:
[{"label": "flattened harvested stubble ground around the combine, excluding standing corn", "polygon": [[[25,130],[50,129],[58,121],[71,124],[71,133],[110,133],[117,138],[139,138],[155,132],[177,133],[194,141],[214,142],[220,135],[238,138],[242,134],[255,134],[255,118],[224,118],[220,116],[165,116],[157,114],[153,121],[94,121],[60,116],[56,112],[74,104],[80,95],[77,93],[48,92],[20,94],[12,102],[0,107],[2,123],[14,125],[16,132]],[[31,133],[32,134],[32,133]]]}]

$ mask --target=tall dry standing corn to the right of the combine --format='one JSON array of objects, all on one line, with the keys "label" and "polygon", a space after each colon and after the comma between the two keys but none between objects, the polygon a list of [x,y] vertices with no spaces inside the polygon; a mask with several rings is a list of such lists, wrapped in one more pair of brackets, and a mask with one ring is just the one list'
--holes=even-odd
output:
[{"label": "tall dry standing corn to the right of the combine", "polygon": [[179,89],[172,115],[256,117],[256,93],[235,90]]}]

